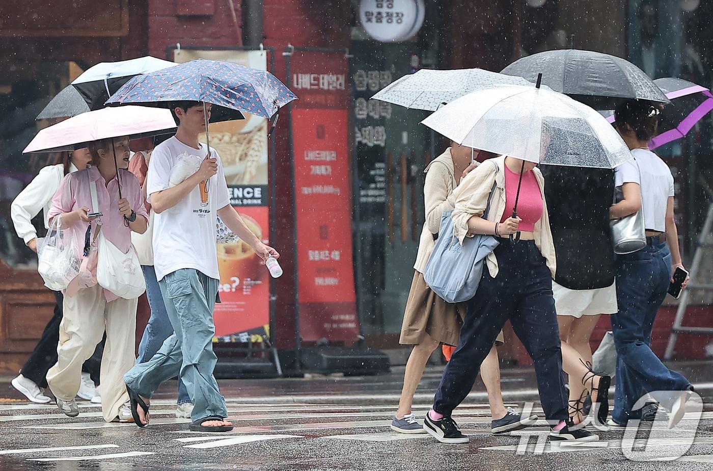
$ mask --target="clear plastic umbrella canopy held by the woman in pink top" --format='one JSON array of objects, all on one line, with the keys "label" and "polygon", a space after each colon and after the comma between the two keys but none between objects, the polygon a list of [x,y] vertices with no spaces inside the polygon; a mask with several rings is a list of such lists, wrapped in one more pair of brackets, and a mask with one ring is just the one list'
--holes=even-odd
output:
[{"label": "clear plastic umbrella canopy held by the woman in pink top", "polygon": [[461,145],[535,163],[615,168],[632,158],[600,113],[542,88],[474,91],[421,122]]}]

